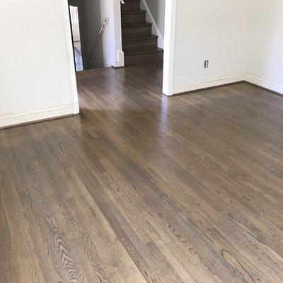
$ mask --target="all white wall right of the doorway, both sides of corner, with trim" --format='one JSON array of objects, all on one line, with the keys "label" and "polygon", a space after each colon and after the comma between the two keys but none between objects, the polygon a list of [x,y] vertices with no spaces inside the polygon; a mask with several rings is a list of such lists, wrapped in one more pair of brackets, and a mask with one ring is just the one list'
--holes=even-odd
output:
[{"label": "all white wall right of the doorway, both sides of corner, with trim", "polygon": [[166,0],[165,45],[166,95],[243,80],[283,93],[281,0]]}]

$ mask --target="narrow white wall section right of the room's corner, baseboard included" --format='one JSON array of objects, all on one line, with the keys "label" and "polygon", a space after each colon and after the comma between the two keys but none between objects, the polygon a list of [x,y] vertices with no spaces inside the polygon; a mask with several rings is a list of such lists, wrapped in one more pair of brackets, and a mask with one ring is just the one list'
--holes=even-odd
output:
[{"label": "narrow white wall section right of the room's corner, baseboard included", "polygon": [[283,1],[257,0],[250,11],[246,80],[283,93]]}]

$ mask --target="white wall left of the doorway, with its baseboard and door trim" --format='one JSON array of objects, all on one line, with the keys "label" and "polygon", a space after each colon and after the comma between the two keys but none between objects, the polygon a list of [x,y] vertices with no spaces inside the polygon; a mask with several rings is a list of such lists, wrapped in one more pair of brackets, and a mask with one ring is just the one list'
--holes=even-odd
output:
[{"label": "white wall left of the doorway, with its baseboard and door trim", "polygon": [[67,0],[0,9],[0,127],[79,112]]}]

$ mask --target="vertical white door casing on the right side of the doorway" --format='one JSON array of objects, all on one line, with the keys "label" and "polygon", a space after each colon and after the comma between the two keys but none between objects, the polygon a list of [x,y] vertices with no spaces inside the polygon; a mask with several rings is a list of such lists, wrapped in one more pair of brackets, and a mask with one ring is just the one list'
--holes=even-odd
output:
[{"label": "vertical white door casing on the right side of the doorway", "polygon": [[173,96],[173,73],[175,57],[175,23],[177,0],[166,0],[165,29],[164,29],[164,57],[163,57],[163,88],[162,93]]}]

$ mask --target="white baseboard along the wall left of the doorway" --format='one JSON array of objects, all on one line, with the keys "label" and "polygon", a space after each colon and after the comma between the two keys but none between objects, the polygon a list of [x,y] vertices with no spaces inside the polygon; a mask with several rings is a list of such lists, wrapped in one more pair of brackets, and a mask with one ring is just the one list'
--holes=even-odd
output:
[{"label": "white baseboard along the wall left of the doorway", "polygon": [[[79,104],[78,104],[79,108]],[[12,125],[20,125],[28,122],[35,122],[38,120],[51,119],[54,117],[62,117],[77,114],[79,110],[76,105],[63,105],[54,108],[47,108],[38,111],[30,111],[19,114],[12,114],[0,117],[0,128],[9,127]]]}]

